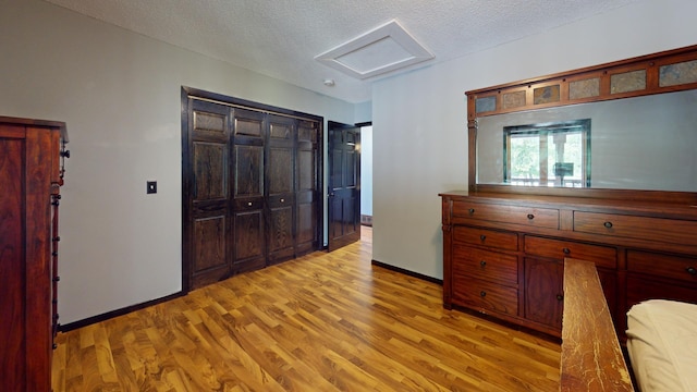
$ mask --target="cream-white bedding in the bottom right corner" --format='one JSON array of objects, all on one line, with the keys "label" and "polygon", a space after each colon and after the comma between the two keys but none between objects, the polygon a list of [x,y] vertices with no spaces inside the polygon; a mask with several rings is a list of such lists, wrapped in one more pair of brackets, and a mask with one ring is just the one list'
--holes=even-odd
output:
[{"label": "cream-white bedding in the bottom right corner", "polygon": [[641,392],[697,392],[697,305],[664,299],[634,305],[626,334]]}]

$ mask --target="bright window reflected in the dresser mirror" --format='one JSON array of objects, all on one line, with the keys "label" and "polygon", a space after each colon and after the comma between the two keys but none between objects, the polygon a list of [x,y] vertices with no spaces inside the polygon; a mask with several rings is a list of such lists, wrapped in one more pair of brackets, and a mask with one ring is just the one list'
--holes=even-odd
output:
[{"label": "bright window reflected in the dresser mirror", "polygon": [[503,181],[590,187],[590,119],[503,127]]}]

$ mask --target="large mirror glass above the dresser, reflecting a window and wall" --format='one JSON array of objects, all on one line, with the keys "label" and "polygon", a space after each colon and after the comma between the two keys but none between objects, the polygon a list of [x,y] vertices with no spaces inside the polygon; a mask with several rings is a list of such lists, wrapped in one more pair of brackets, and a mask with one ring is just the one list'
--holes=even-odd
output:
[{"label": "large mirror glass above the dresser, reflecting a window and wall", "polygon": [[[697,192],[696,109],[697,90],[685,90],[481,117],[477,119],[477,183]],[[529,124],[563,128],[577,119],[588,122],[587,130],[577,136],[566,134],[563,151],[557,147],[563,137],[554,139],[554,134],[563,133],[552,131],[545,142],[526,137],[531,135],[526,132],[534,131],[526,130]],[[530,149],[526,144],[536,145],[537,151],[545,151],[540,146],[547,144],[547,154],[523,155],[536,163],[517,163],[524,158],[516,157],[516,151]],[[574,155],[570,148],[579,152]]]}]

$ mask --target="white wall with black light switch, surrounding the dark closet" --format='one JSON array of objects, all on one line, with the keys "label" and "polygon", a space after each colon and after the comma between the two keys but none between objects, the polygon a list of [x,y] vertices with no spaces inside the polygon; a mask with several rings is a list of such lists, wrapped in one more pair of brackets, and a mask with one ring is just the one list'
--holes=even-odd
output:
[{"label": "white wall with black light switch, surrounding the dark closet", "polygon": [[[68,124],[62,323],[181,290],[182,85],[326,121],[356,114],[354,105],[37,0],[0,0],[0,115]],[[148,180],[156,195],[146,195]]]}]

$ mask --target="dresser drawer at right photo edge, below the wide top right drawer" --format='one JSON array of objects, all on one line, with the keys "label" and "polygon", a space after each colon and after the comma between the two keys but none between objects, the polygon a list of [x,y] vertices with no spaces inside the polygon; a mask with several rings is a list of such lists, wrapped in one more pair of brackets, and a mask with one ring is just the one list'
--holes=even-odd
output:
[{"label": "dresser drawer at right photo edge, below the wide top right drawer", "polygon": [[697,284],[697,259],[693,258],[627,250],[627,270]]}]

